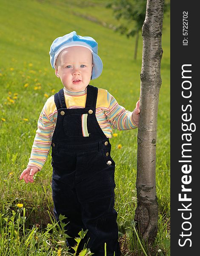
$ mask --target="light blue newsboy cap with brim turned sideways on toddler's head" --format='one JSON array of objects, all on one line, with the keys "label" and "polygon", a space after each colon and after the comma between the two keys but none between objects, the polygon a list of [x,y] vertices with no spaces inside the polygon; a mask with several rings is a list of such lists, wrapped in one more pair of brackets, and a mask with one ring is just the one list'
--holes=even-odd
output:
[{"label": "light blue newsboy cap with brim turned sideways on toddler's head", "polygon": [[69,34],[63,35],[56,38],[50,47],[50,63],[51,67],[55,69],[55,62],[59,53],[68,47],[72,46],[82,46],[88,48],[93,56],[93,68],[91,79],[96,79],[100,76],[103,70],[103,63],[100,57],[97,55],[98,44],[90,36],[81,36],[77,35],[76,31],[73,31]]}]

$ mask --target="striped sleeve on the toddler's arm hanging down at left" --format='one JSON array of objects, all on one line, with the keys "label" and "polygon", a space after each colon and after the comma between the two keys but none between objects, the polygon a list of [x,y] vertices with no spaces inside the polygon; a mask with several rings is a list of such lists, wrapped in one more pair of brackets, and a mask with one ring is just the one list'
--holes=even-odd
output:
[{"label": "striped sleeve on the toddler's arm hanging down at left", "polygon": [[36,166],[39,170],[42,169],[51,147],[51,138],[54,132],[56,119],[57,109],[55,108],[53,113],[49,113],[47,100],[37,122],[37,131],[28,166]]}]

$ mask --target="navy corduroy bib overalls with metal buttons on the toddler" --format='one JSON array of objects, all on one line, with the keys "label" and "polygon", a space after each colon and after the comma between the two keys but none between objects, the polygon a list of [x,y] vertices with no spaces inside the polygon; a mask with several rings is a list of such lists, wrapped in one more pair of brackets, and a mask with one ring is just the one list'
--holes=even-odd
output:
[{"label": "navy corduroy bib overalls with metal buttons on the toddler", "polygon": [[[94,256],[120,255],[117,212],[114,209],[114,169],[109,138],[100,128],[95,112],[98,88],[86,87],[85,108],[68,109],[63,89],[54,95],[57,123],[52,137],[52,196],[54,215],[67,217],[70,247],[79,231],[88,229],[87,243]],[[89,136],[82,132],[82,115],[87,114]],[[79,251],[83,247],[79,248]]]}]

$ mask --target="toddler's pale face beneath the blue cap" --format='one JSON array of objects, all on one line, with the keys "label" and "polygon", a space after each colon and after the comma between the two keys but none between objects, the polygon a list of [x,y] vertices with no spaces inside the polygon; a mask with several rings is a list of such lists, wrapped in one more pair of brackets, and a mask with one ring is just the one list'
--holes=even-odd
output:
[{"label": "toddler's pale face beneath the blue cap", "polygon": [[92,74],[92,53],[86,47],[73,46],[63,49],[56,60],[56,76],[71,91],[85,90]]}]

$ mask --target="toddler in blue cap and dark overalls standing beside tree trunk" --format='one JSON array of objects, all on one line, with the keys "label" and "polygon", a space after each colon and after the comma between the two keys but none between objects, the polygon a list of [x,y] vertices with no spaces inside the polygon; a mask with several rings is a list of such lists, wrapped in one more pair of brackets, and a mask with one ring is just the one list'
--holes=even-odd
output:
[{"label": "toddler in blue cap and dark overalls standing beside tree trunk", "polygon": [[[139,101],[126,111],[105,89],[89,84],[100,76],[103,63],[97,42],[75,31],[56,38],[50,62],[64,88],[47,99],[40,117],[28,166],[20,180],[33,182],[52,148],[52,197],[54,215],[66,216],[69,248],[81,229],[88,230],[78,248],[90,248],[94,256],[119,256],[117,212],[114,209],[114,169],[111,126],[137,128]],[[73,249],[71,248],[73,252]]]}]

